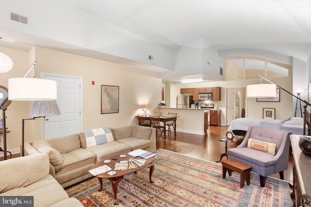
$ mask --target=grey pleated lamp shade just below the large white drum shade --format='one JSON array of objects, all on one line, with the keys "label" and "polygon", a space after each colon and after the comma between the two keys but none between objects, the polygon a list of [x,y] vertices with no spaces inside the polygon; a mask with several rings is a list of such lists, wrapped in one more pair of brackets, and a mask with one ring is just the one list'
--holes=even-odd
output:
[{"label": "grey pleated lamp shade just below the large white drum shade", "polygon": [[36,100],[34,101],[29,116],[55,116],[59,115],[60,111],[56,100]]}]

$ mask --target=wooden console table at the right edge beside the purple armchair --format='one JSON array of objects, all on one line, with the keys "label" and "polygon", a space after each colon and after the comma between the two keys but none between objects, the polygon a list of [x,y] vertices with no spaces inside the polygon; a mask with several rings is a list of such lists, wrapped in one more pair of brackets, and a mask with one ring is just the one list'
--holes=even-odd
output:
[{"label": "wooden console table at the right edge beside the purple armchair", "polygon": [[301,198],[311,205],[311,156],[302,153],[299,148],[299,138],[301,135],[290,135],[293,151],[293,192],[291,197],[294,207],[301,205]]}]

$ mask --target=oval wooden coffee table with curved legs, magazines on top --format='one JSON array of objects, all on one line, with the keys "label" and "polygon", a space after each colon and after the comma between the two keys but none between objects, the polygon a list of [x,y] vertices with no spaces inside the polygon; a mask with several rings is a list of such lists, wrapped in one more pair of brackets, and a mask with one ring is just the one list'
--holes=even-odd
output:
[{"label": "oval wooden coffee table with curved legs, magazines on top", "polygon": [[[117,160],[114,160],[112,158],[116,158]],[[155,169],[155,166],[153,165],[153,161],[155,161],[156,156],[154,156],[152,158],[149,158],[149,159],[146,159],[146,162],[145,162],[144,165],[142,165],[140,167],[137,167],[135,169],[114,170],[115,164],[116,164],[117,161],[128,160],[130,158],[142,159],[142,158],[139,158],[139,157],[130,156],[128,154],[126,154],[125,158],[121,158],[120,155],[118,155],[118,156],[114,156],[114,157],[109,158],[111,160],[111,162],[109,162],[109,163],[104,163],[104,161],[102,161],[102,162],[99,162],[99,163],[95,164],[91,168],[91,169],[94,169],[94,168],[100,167],[102,165],[107,165],[107,166],[109,166],[112,169],[111,171],[116,171],[117,172],[115,175],[108,175],[109,171],[104,173],[104,174],[96,175],[98,180],[99,180],[99,183],[101,184],[101,187],[98,189],[98,191],[102,191],[103,190],[103,178],[108,178],[110,180],[111,185],[112,185],[113,194],[114,194],[114,200],[113,200],[113,204],[114,205],[117,204],[118,184],[123,179],[124,175],[130,174],[130,173],[135,173],[136,174],[138,170],[140,170],[140,169],[142,169],[144,167],[148,167],[148,168],[150,168],[149,180],[150,180],[151,183],[153,183],[153,181],[151,180],[151,176],[152,176],[152,174],[154,172],[154,169]]]}]

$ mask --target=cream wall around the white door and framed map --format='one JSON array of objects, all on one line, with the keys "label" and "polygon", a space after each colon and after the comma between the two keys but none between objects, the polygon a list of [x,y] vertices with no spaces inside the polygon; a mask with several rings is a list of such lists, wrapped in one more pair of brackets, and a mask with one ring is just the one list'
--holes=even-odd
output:
[{"label": "cream wall around the white door and framed map", "polygon": [[[9,78],[23,77],[34,58],[37,62],[36,77],[40,77],[41,72],[83,77],[84,130],[138,124],[135,115],[142,113],[139,109],[140,104],[146,102],[152,112],[161,102],[162,81],[158,73],[150,72],[149,76],[141,75],[137,68],[46,48],[34,48],[27,52],[0,47],[0,51],[10,56],[14,62],[13,69],[0,76],[0,85],[5,87],[8,87]],[[95,85],[91,84],[92,80],[95,81]],[[119,86],[119,113],[101,114],[101,85]],[[21,120],[29,118],[31,104],[31,101],[12,101],[8,107],[7,127],[11,130],[7,136],[8,150],[19,151]],[[41,139],[42,125],[42,119],[25,122],[25,140]]]}]

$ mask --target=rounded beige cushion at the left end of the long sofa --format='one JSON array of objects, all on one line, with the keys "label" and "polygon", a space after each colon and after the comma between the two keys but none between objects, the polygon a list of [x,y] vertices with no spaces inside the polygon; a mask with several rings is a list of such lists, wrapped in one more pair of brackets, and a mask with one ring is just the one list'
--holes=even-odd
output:
[{"label": "rounded beige cushion at the left end of the long sofa", "polygon": [[61,154],[52,148],[52,146],[46,142],[46,140],[38,140],[33,143],[33,146],[41,153],[47,153],[49,155],[50,163],[57,172],[62,168],[63,159]]}]

